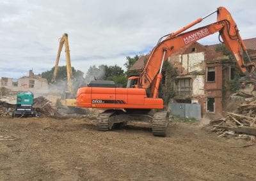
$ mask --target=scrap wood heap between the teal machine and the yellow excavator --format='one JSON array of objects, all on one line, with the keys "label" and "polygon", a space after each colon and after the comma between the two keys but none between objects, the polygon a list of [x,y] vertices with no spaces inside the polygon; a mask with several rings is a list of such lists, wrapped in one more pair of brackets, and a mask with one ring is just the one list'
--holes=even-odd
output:
[{"label": "scrap wood heap between the teal machine and the yellow excavator", "polygon": [[56,108],[51,106],[51,101],[47,100],[43,96],[34,99],[33,108],[35,108],[36,113],[40,113],[40,115],[60,116],[60,113],[56,110]]}]

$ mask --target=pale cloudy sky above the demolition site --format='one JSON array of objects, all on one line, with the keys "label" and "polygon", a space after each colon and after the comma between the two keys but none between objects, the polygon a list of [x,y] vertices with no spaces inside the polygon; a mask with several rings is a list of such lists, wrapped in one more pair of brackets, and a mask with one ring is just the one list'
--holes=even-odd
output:
[{"label": "pale cloudy sky above the demolition site", "polygon": [[[59,38],[68,34],[71,64],[118,65],[147,54],[159,38],[224,6],[243,39],[256,38],[255,0],[0,0],[0,77],[40,74],[54,67]],[[216,14],[196,27],[216,22]],[[218,34],[199,41],[219,43]],[[61,52],[60,66],[65,65]]]}]

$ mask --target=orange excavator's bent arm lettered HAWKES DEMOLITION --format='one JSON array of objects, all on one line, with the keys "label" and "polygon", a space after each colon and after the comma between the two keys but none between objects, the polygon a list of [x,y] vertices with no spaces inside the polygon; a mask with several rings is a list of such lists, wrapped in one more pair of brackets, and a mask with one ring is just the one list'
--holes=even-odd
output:
[{"label": "orange excavator's bent arm lettered HAWKES DEMOLITION", "polygon": [[[204,18],[209,17],[209,15],[215,12],[217,12],[218,15],[217,22],[183,33],[189,29],[189,27],[202,22]],[[254,62],[244,62],[243,52],[246,52],[246,55],[248,55],[248,53],[239,34],[237,25],[230,13],[223,7],[218,8],[212,13],[204,18],[198,18],[175,33],[170,33],[160,38],[156,47],[154,47],[150,53],[148,61],[138,78],[139,88],[147,89],[150,87],[150,98],[157,98],[157,92],[162,78],[161,69],[163,67],[163,61],[180,48],[217,32],[220,33],[227,49],[234,55],[239,73],[241,75],[247,75],[255,71]],[[163,38],[165,39],[163,40]],[[249,56],[248,59],[250,61]]]}]

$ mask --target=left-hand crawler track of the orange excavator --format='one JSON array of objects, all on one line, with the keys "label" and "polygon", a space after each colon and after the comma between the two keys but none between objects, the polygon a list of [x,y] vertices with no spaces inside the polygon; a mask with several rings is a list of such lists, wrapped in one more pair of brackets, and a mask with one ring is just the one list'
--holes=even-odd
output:
[{"label": "left-hand crawler track of the orange excavator", "polygon": [[113,112],[103,112],[97,117],[96,129],[99,131],[109,131],[109,117]]}]

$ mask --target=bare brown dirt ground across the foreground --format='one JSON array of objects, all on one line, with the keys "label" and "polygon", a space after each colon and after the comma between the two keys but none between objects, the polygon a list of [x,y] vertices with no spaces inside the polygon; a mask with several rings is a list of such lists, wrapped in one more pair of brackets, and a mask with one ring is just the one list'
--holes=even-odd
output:
[{"label": "bare brown dirt ground across the foreground", "polygon": [[0,117],[0,180],[256,180],[256,145],[196,124],[109,132],[88,118]]}]

